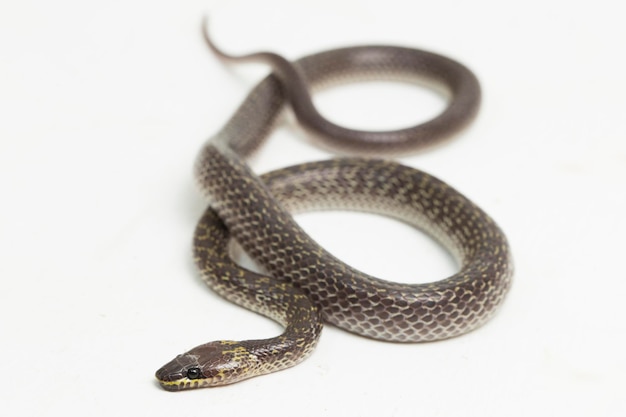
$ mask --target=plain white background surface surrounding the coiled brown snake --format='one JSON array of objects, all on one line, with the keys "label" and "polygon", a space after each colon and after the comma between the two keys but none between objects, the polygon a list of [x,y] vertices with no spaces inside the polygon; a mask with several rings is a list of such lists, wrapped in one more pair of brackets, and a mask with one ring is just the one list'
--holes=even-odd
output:
[{"label": "plain white background surface surrounding the coiled brown snake", "polygon": [[[20,1],[0,6],[0,412],[42,415],[623,416],[626,26],[618,2]],[[169,393],[154,371],[213,339],[274,323],[201,282],[191,236],[205,202],[191,167],[263,66],[389,43],[472,68],[484,102],[445,146],[403,158],[452,184],[510,238],[499,314],[452,340],[399,345],[327,327],[301,365]],[[389,83],[320,94],[362,128],[444,103]],[[328,157],[286,121],[259,172]],[[406,226],[353,213],[298,220],[355,266],[405,282],[454,264]],[[343,233],[345,228],[347,231]]]}]

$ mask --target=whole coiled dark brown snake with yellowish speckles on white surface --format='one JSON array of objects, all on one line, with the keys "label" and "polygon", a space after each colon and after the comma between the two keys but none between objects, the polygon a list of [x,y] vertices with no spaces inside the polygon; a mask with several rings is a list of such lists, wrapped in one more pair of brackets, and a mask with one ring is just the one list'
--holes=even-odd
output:
[{"label": "whole coiled dark brown snake with yellowish speckles on white surface", "polygon": [[[219,49],[207,29],[205,21],[205,41],[219,58],[266,63],[271,73],[195,162],[209,200],[194,233],[195,263],[213,291],[275,320],[284,331],[269,339],[199,345],[161,367],[158,383],[168,391],[214,387],[292,367],[311,355],[325,323],[378,340],[429,342],[488,321],[513,274],[504,233],[450,185],[389,158],[465,127],[481,101],[476,76],[442,55],[388,45],[339,48],[293,62],[271,52],[236,56]],[[427,83],[443,88],[449,99],[431,120],[390,131],[345,128],[318,112],[314,91],[364,79]],[[247,159],[286,107],[311,137],[341,155],[258,176]],[[293,215],[307,210],[364,211],[400,220],[444,246],[458,271],[414,284],[370,276],[330,254],[298,225]],[[260,272],[239,265],[233,242]]]}]

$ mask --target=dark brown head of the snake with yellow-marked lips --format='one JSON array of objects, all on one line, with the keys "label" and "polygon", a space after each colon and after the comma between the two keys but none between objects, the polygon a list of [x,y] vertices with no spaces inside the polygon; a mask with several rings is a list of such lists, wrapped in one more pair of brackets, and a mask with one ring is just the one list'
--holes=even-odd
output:
[{"label": "dark brown head of the snake with yellow-marked lips", "polygon": [[178,355],[156,372],[167,391],[231,384],[250,376],[257,357],[240,342],[218,341]]}]

